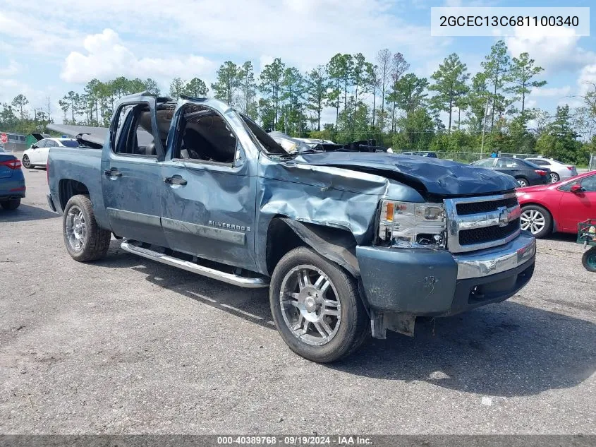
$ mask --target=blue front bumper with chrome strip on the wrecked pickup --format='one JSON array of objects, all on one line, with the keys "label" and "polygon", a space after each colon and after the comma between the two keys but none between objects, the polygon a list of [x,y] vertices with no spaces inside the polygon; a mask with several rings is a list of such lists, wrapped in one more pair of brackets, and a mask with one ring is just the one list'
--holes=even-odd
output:
[{"label": "blue front bumper with chrome strip on the wrecked pickup", "polygon": [[449,316],[516,294],[534,273],[536,241],[521,232],[509,244],[470,254],[357,246],[356,255],[371,309]]}]

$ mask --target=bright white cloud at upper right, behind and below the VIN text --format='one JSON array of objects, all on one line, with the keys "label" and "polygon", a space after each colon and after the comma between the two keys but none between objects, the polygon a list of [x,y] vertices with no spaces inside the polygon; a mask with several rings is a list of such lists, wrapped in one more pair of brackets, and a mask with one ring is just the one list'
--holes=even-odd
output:
[{"label": "bright white cloud at upper right, behind and below the VIN text", "polygon": [[[545,35],[548,32],[549,35]],[[516,27],[515,35],[505,37],[511,56],[528,52],[537,66],[546,71],[576,71],[586,62],[595,61],[596,54],[579,47],[580,36],[566,28]],[[555,35],[553,35],[555,34]]]}]

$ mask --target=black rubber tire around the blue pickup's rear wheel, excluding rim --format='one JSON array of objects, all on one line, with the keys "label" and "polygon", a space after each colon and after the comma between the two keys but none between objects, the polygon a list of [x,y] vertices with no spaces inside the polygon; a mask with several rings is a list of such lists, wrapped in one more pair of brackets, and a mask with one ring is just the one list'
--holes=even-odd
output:
[{"label": "black rubber tire around the blue pickup's rear wheel, excluding rim", "polygon": [[[69,211],[74,206],[78,207],[85,218],[85,234],[82,238],[82,246],[80,246],[80,249],[75,249],[71,244],[66,231],[67,221],[70,218]],[[88,196],[83,196],[81,194],[72,196],[68,203],[66,203],[62,216],[62,234],[64,237],[64,244],[66,245],[66,251],[68,251],[68,254],[70,254],[75,261],[97,261],[97,259],[106,256],[109,249],[111,232],[103,230],[97,225],[97,222],[95,221],[95,213],[93,212],[93,207]]]}]

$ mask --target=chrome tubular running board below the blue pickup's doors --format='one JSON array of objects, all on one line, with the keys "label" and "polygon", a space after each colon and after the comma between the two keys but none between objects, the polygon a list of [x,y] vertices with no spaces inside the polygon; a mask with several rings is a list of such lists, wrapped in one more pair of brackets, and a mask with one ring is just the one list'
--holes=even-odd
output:
[{"label": "chrome tubular running board below the blue pickup's doors", "polygon": [[200,266],[197,263],[174,258],[174,256],[159,253],[158,251],[144,249],[128,240],[123,241],[120,246],[124,251],[128,251],[128,253],[136,254],[143,258],[151,259],[152,261],[161,262],[168,266],[182,268],[183,270],[198,273],[199,275],[207,276],[207,278],[212,278],[214,280],[227,282],[228,284],[237,285],[239,287],[250,287],[253,289],[257,287],[269,287],[269,278],[248,278],[245,276],[234,275],[233,273],[221,272],[214,268]]}]

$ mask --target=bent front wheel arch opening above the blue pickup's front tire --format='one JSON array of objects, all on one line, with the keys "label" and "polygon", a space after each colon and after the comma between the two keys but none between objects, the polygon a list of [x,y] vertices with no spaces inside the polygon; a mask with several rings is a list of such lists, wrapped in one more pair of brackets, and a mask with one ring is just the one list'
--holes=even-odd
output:
[{"label": "bent front wheel arch opening above the blue pickup's front tire", "polygon": [[267,228],[266,257],[269,275],[272,275],[279,260],[298,246],[309,246],[324,258],[346,269],[354,278],[360,278],[355,254],[356,240],[351,232],[298,222],[284,215],[274,217]]}]

